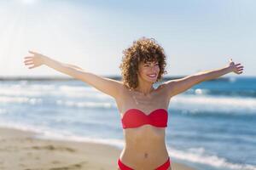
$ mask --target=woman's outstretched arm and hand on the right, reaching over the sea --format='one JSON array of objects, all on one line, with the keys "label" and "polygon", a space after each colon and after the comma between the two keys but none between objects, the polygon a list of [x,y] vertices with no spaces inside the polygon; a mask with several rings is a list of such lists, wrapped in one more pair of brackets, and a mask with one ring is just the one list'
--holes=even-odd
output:
[{"label": "woman's outstretched arm and hand on the right, reaching over the sea", "polygon": [[235,72],[236,74],[241,74],[243,71],[243,66],[239,63],[236,64],[230,59],[230,64],[224,66],[220,69],[215,69],[211,71],[201,71],[194,75],[183,77],[180,79],[170,80],[163,83],[163,87],[166,88],[166,93],[169,95],[169,99],[177,94],[181,94],[189,88],[193,87],[195,84],[204,82],[207,80],[212,80],[221,77],[230,72]]}]

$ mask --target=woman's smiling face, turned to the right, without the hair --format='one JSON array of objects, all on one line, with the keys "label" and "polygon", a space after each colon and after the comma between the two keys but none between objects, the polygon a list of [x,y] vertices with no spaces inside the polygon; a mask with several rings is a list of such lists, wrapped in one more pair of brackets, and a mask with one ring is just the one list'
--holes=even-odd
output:
[{"label": "woman's smiling face, turned to the right, without the hair", "polygon": [[138,77],[146,82],[156,82],[160,72],[158,61],[146,61],[139,63]]}]

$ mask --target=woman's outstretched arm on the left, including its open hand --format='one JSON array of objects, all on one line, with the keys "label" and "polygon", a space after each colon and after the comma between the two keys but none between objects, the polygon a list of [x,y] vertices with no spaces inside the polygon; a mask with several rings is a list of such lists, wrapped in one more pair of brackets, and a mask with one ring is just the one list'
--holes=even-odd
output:
[{"label": "woman's outstretched arm on the left, including its open hand", "polygon": [[26,56],[24,58],[24,63],[29,66],[29,69],[36,68],[40,65],[47,65],[50,68],[55,69],[55,71],[60,71],[70,77],[86,82],[90,86],[100,90],[104,94],[112,96],[115,99],[118,98],[120,90],[123,87],[122,82],[97,76],[93,73],[84,71],[79,66],[61,63],[60,61],[51,59],[36,52],[29,51],[29,53],[32,54],[32,56]]}]

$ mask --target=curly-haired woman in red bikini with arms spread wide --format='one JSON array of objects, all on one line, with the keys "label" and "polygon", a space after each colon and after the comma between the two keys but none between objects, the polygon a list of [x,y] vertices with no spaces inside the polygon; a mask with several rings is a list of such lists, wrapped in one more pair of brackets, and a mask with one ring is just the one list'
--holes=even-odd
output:
[{"label": "curly-haired woman in red bikini with arms spread wide", "polygon": [[203,71],[180,79],[166,81],[158,88],[166,73],[166,55],[163,48],[152,38],[142,37],[124,50],[122,82],[99,77],[75,65],[68,65],[50,59],[43,54],[30,51],[25,57],[29,69],[47,65],[112,96],[119,109],[124,128],[125,148],[117,161],[120,170],[157,169],[170,170],[171,160],[166,150],[167,108],[170,99],[183,93],[199,82],[211,80],[230,72],[241,74],[243,66],[230,59],[223,68]]}]

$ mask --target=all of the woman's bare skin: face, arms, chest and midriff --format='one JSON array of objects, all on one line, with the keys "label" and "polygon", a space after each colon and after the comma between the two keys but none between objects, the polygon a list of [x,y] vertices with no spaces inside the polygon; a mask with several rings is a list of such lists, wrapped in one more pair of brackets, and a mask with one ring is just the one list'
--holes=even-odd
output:
[{"label": "all of the woman's bare skin: face, arms, chest and midriff", "polygon": [[[84,71],[76,65],[61,63],[49,57],[29,52],[31,56],[24,59],[29,69],[40,65],[47,65],[55,71],[60,71],[68,76],[86,82],[90,86],[100,90],[104,94],[113,97],[117,103],[120,118],[129,109],[138,109],[148,115],[156,109],[168,108],[170,99],[192,88],[195,84],[221,77],[230,72],[241,74],[243,66],[236,64],[230,59],[230,64],[223,68],[212,71],[201,71],[194,75],[180,79],[170,80],[162,83],[158,88],[153,88],[153,83],[159,74],[159,65],[155,62],[140,63],[138,72],[138,87],[134,90],[128,89],[122,82],[99,77]],[[155,74],[155,77],[148,75]],[[137,128],[125,128],[125,147],[121,152],[120,160],[134,169],[154,169],[159,167],[168,159],[166,150],[166,128],[144,125]],[[169,170],[172,168],[170,167]]]}]

